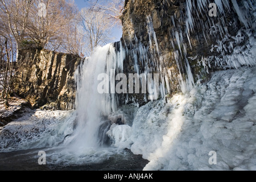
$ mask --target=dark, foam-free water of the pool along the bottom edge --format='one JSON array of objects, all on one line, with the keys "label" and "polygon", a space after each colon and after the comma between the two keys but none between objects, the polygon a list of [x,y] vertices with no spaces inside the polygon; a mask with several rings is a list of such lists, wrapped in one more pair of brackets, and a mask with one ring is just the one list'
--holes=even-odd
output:
[{"label": "dark, foam-free water of the pool along the bottom edge", "polygon": [[44,151],[34,149],[0,154],[0,171],[142,171],[148,163],[141,155],[124,150],[122,154],[110,155],[98,163],[39,165],[38,152],[41,150]]}]

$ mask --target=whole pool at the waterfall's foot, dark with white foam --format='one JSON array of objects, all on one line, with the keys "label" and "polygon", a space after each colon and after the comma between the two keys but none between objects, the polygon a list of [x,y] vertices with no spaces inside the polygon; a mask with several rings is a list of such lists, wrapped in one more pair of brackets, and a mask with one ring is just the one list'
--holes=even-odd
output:
[{"label": "whole pool at the waterfall's foot, dark with white foam", "polygon": [[[46,165],[39,165],[39,151],[46,151]],[[148,163],[130,150],[104,148],[74,156],[61,148],[40,148],[0,154],[1,171],[142,171]]]}]

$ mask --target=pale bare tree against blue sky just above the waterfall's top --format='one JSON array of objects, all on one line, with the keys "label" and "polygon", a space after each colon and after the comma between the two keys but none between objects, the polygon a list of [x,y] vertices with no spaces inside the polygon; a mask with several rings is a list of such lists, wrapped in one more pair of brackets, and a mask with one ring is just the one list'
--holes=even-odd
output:
[{"label": "pale bare tree against blue sky just above the waterfall's top", "polygon": [[84,41],[88,47],[86,54],[90,55],[95,47],[103,46],[112,39],[110,30],[113,23],[106,18],[104,12],[96,12],[88,8],[81,10],[80,18],[80,24],[84,30]]}]

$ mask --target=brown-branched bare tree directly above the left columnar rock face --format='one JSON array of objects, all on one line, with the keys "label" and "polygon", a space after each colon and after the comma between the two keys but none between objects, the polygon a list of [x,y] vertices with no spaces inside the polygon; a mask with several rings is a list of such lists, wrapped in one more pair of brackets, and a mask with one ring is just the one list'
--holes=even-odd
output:
[{"label": "brown-branched bare tree directly above the left columnar rock face", "polygon": [[[40,7],[40,5],[44,7]],[[45,14],[39,14],[45,8]],[[73,2],[65,0],[42,0],[34,3],[28,19],[27,37],[39,48],[56,50],[67,38],[71,23],[78,10]]]}]

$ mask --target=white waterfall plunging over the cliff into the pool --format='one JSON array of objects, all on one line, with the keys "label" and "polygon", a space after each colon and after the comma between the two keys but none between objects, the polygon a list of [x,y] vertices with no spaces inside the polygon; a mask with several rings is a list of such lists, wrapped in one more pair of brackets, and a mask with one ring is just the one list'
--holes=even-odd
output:
[{"label": "white waterfall plunging over the cliff into the pool", "polygon": [[118,42],[97,47],[91,57],[85,59],[76,73],[77,81],[77,124],[76,131],[67,139],[74,150],[97,147],[99,127],[104,125],[106,117],[117,110],[118,102],[114,93],[98,92],[98,76],[106,74],[109,82],[113,78],[113,69],[123,71],[123,48]]}]

